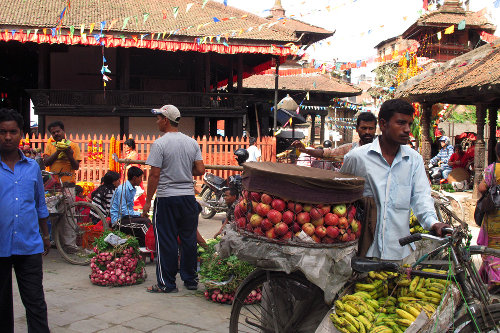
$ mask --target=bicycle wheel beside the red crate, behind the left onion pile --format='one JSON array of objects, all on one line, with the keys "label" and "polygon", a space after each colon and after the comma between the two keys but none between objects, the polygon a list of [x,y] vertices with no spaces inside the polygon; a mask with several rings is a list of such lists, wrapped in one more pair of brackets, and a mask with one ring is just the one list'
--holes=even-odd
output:
[{"label": "bicycle wheel beside the red crate, behind the left onion pile", "polygon": [[[91,229],[88,214],[93,212],[102,223],[103,230]],[[89,254],[93,252],[92,243],[107,230],[107,223],[102,212],[94,205],[78,201],[67,206],[67,210],[57,221],[53,238],[62,258],[74,265],[90,264]]]}]

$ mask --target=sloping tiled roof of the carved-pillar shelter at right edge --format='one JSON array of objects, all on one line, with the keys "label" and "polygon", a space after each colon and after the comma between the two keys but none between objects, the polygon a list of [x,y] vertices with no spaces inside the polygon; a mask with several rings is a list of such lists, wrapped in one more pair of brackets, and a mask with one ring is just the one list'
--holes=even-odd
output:
[{"label": "sloping tiled roof of the carved-pillar shelter at right edge", "polygon": [[500,39],[465,53],[401,84],[396,97],[412,100],[464,98],[500,91]]}]

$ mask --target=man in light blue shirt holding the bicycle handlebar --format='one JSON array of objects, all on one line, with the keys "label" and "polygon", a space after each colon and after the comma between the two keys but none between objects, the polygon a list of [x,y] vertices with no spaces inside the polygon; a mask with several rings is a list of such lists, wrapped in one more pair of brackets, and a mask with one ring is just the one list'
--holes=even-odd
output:
[{"label": "man in light blue shirt holding the bicycle handlebar", "polygon": [[405,146],[413,112],[411,104],[402,99],[385,101],[378,113],[382,135],[350,151],[340,168],[340,172],[363,177],[363,195],[375,200],[374,240],[366,254],[375,260],[400,264],[415,261],[415,246],[401,247],[398,243],[399,238],[410,234],[410,208],[422,227],[435,230],[438,236],[441,228],[448,226],[437,220],[422,157]]}]

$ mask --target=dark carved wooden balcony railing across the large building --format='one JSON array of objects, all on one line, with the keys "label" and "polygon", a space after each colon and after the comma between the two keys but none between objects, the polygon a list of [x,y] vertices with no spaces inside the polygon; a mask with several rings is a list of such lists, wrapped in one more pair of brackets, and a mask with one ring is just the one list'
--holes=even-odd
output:
[{"label": "dark carved wooden balcony railing across the large building", "polygon": [[109,90],[26,90],[38,115],[147,116],[165,104],[183,116],[235,117],[246,113],[252,95]]}]

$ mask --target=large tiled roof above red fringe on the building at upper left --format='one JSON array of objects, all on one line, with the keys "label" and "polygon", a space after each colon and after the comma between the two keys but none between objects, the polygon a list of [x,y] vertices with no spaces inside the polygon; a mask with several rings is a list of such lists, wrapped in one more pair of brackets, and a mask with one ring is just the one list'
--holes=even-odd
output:
[{"label": "large tiled roof above red fringe on the building at upper left", "polygon": [[[297,41],[298,36],[290,28],[294,26],[291,23],[293,20],[288,20],[285,25],[276,23],[268,27],[267,23],[272,21],[250,12],[224,6],[220,2],[211,0],[202,9],[201,2],[201,0],[198,2],[194,0],[71,0],[71,7],[62,20],[62,26],[65,28],[74,26],[75,34],[78,34],[81,24],[85,24],[85,32],[88,33],[90,23],[95,23],[94,31],[98,33],[101,21],[106,21],[103,33],[133,34],[166,31],[169,34],[170,30],[175,31],[191,26],[189,29],[177,31],[175,36],[191,41],[194,37],[229,33],[229,38],[232,39]],[[53,27],[65,3],[65,0],[0,0],[0,25],[3,25],[3,28],[5,25],[17,28]],[[186,7],[190,3],[193,4],[186,13]],[[174,17],[172,8],[176,6],[178,6],[178,11],[177,16]],[[149,14],[145,22],[143,21],[144,13]],[[165,15],[164,19],[163,15]],[[244,15],[247,16],[241,18]],[[130,18],[125,28],[122,28],[125,17]],[[220,21],[214,22],[213,17]],[[230,17],[236,18],[223,20]],[[113,19],[118,20],[110,32],[107,32]],[[209,24],[198,29],[198,26],[204,23]],[[258,26],[261,24],[266,25],[259,30]],[[302,26],[306,23],[297,23],[297,27],[298,25]],[[249,27],[253,29],[245,32]],[[243,32],[239,34],[241,29]],[[300,31],[302,29],[301,27]],[[311,29],[314,30],[316,27]],[[236,33],[232,35],[232,31]]]}]

